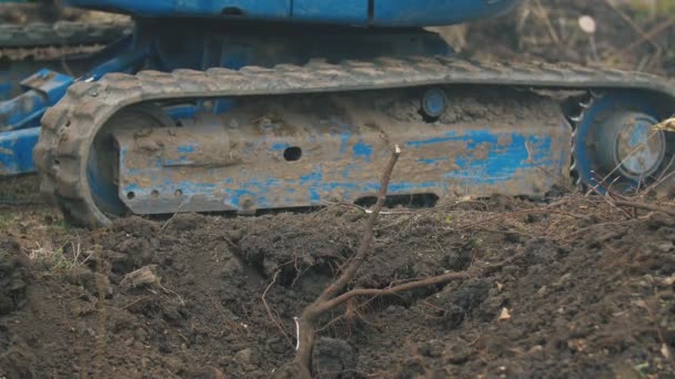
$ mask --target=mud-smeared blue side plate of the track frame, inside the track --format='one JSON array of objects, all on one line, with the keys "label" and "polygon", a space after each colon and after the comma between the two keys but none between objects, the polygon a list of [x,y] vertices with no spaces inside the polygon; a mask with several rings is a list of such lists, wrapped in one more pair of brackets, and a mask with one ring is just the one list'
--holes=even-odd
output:
[{"label": "mud-smeared blue side plate of the track frame, inside the track", "polygon": [[[225,125],[230,117],[253,120],[232,112]],[[314,206],[376,194],[372,173],[390,155],[377,131],[298,117],[292,125],[242,123],[226,133],[219,123],[148,136],[120,131],[118,195],[134,213],[161,214]],[[543,195],[568,170],[571,129],[562,119],[554,123],[387,123],[387,136],[404,151],[390,194]],[[151,142],[161,148],[138,147]],[[300,160],[284,158],[289,147],[302,150]]]}]

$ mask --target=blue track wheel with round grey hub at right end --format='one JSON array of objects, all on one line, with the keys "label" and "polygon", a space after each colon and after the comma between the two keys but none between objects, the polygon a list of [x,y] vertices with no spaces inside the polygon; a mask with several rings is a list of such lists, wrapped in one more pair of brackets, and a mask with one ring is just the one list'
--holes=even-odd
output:
[{"label": "blue track wheel with round grey hub at right end", "polygon": [[646,96],[611,93],[584,105],[573,146],[578,184],[628,193],[673,176],[675,141],[654,129],[662,114]]}]

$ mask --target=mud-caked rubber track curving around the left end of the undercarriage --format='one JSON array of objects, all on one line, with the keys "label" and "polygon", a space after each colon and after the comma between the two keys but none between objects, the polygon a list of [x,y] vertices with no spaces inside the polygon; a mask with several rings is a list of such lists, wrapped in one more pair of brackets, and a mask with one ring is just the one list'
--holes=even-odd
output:
[{"label": "mud-caked rubber track curving around the left end of the undercarriage", "polygon": [[75,83],[42,119],[34,160],[41,190],[67,217],[98,227],[110,223],[95,205],[87,180],[90,145],[118,111],[141,102],[387,90],[434,85],[491,85],[547,90],[634,90],[675,99],[675,83],[646,73],[572,64],[471,62],[447,57],[310,62],[273,69],[113,73]]}]

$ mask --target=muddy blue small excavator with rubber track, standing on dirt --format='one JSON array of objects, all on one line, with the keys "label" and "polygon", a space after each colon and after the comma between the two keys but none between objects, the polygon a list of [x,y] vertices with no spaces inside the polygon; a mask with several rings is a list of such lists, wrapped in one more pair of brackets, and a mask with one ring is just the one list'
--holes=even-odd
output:
[{"label": "muddy blue small excavator with rubber track, standing on dirt", "polygon": [[[79,225],[374,196],[546,196],[576,183],[668,193],[675,83],[460,58],[425,27],[520,0],[69,0],[129,14],[81,75],[0,103],[0,173],[38,172]],[[485,47],[490,49],[490,47]]]}]

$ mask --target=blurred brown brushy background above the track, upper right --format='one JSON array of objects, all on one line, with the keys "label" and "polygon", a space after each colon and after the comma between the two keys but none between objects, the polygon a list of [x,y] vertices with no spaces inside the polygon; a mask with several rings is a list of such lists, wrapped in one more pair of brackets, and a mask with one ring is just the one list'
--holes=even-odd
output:
[{"label": "blurred brown brushy background above the track, upper right", "polygon": [[514,14],[437,30],[471,58],[675,74],[675,0],[526,0]]}]

